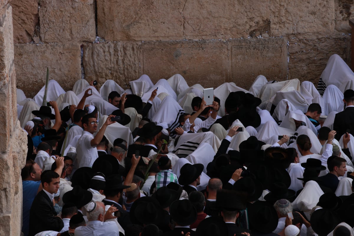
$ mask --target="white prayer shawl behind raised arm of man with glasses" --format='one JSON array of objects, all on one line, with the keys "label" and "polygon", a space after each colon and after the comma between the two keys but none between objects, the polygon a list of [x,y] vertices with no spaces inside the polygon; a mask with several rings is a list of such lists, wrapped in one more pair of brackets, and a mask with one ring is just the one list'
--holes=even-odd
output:
[{"label": "white prayer shawl behind raised arm of man with glasses", "polygon": [[[101,116],[101,118],[99,119],[99,123],[98,123],[99,129],[103,126],[104,122],[107,120],[107,117],[108,116],[106,116],[106,115]],[[122,139],[126,140],[128,145],[133,144],[133,142],[134,142],[130,128],[122,126],[120,123],[117,123],[117,122],[107,126],[107,128],[104,132],[104,136],[109,141],[109,145],[108,145],[109,148],[113,147],[113,142],[116,138],[122,138]]]}]

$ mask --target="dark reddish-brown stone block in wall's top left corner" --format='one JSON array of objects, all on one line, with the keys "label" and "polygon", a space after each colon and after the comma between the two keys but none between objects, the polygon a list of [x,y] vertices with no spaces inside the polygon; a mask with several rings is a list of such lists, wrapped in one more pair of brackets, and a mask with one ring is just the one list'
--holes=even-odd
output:
[{"label": "dark reddish-brown stone block in wall's top left corner", "polygon": [[32,42],[36,25],[39,23],[38,0],[11,0],[10,4],[13,17],[13,41],[15,44]]}]

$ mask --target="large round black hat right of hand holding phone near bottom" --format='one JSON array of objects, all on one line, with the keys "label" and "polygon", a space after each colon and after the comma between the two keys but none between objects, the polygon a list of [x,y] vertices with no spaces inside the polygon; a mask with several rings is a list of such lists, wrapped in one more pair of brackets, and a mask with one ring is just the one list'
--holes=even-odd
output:
[{"label": "large round black hat right of hand holding phone near bottom", "polygon": [[164,211],[154,197],[140,197],[134,201],[129,211],[133,224],[159,225],[164,219]]}]

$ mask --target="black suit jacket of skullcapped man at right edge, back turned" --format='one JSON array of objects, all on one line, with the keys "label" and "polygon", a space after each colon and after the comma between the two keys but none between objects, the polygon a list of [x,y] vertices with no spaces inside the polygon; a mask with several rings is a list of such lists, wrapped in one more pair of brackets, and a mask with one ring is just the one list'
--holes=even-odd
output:
[{"label": "black suit jacket of skullcapped man at right edge, back turned", "polygon": [[350,134],[354,135],[354,107],[347,107],[344,111],[336,114],[333,129],[337,131],[335,138],[339,140],[341,136],[350,129]]}]

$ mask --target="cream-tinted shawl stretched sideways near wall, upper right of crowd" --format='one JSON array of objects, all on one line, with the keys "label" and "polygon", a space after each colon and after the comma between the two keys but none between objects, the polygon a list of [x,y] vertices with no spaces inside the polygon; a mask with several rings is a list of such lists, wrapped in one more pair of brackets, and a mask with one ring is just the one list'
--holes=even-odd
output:
[{"label": "cream-tinted shawl stretched sideways near wall, upper right of crowd", "polygon": [[278,91],[292,90],[300,90],[300,81],[298,79],[267,83],[262,87],[261,91],[259,91],[258,98],[260,98],[262,102],[265,102],[272,98]]}]

